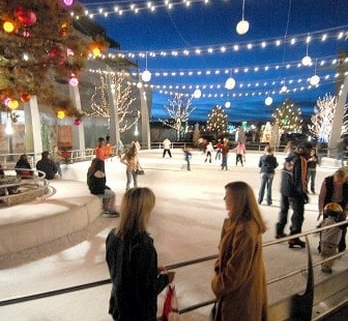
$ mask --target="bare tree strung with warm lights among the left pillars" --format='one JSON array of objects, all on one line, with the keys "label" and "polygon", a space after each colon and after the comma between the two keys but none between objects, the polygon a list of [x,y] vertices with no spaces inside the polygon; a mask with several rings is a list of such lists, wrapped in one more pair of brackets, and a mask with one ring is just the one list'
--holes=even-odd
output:
[{"label": "bare tree strung with warm lights among the left pillars", "polygon": [[[124,133],[132,128],[139,119],[139,111],[132,108],[136,100],[132,95],[132,88],[127,83],[127,76],[123,73],[114,74],[111,77],[112,96],[116,101],[117,116],[120,133]],[[110,101],[108,96],[107,75],[100,75],[100,85],[95,86],[91,96],[91,111],[84,110],[87,116],[99,116],[110,121]]]}]

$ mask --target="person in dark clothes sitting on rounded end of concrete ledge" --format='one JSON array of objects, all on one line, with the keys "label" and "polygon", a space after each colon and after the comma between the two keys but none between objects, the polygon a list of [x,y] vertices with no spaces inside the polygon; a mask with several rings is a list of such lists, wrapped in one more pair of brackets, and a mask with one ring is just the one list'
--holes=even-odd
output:
[{"label": "person in dark clothes sitting on rounded end of concrete ledge", "polygon": [[104,172],[104,161],[99,158],[92,160],[91,166],[87,172],[87,185],[93,195],[100,196],[103,199],[103,210],[105,214],[118,217],[115,210],[116,195],[110,187],[106,185]]}]

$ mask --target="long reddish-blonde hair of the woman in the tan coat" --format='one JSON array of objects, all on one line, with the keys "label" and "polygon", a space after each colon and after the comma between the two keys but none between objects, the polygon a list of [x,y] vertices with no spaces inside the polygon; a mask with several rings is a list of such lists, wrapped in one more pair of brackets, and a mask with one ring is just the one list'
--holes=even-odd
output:
[{"label": "long reddish-blonde hair of the woman in the tan coat", "polygon": [[231,220],[235,222],[254,220],[259,227],[259,233],[266,232],[266,225],[262,219],[252,188],[245,182],[237,181],[228,183],[225,189],[232,196]]}]

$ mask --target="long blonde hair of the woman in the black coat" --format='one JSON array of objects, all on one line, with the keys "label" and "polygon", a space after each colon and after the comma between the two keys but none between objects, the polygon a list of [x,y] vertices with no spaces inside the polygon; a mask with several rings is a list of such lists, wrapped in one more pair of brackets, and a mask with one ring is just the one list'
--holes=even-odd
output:
[{"label": "long blonde hair of the woman in the black coat", "polygon": [[146,233],[147,224],[155,203],[155,194],[148,187],[136,187],[126,191],[121,201],[121,221],[116,234],[125,238]]}]

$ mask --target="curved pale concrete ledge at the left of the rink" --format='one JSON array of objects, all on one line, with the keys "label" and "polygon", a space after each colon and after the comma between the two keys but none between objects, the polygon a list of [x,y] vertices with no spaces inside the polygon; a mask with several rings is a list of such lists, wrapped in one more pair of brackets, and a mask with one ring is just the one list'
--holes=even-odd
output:
[{"label": "curved pale concrete ledge at the left of the rink", "polygon": [[82,231],[100,216],[86,184],[53,180],[52,195],[0,209],[0,258]]}]

